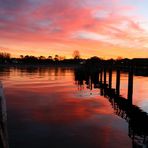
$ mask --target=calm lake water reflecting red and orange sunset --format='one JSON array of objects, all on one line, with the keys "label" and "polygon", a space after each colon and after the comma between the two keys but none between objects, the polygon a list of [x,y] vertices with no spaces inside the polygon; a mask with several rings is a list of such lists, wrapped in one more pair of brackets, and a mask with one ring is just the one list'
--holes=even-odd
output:
[{"label": "calm lake water reflecting red and orange sunset", "polygon": [[[127,74],[121,78],[126,97]],[[132,148],[128,123],[99,89],[78,85],[73,69],[1,69],[0,80],[10,148]],[[146,112],[147,92],[148,77],[135,76],[133,103]]]}]

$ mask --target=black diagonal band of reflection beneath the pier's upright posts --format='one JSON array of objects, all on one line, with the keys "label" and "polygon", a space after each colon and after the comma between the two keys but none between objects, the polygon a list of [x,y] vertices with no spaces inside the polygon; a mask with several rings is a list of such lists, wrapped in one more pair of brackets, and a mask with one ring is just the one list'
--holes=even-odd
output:
[{"label": "black diagonal band of reflection beneath the pier's upright posts", "polygon": [[[128,135],[132,139],[133,147],[148,147],[147,113],[143,112],[138,106],[132,105],[131,100],[119,96],[117,93],[115,93],[115,89],[104,87],[102,81],[98,81],[99,73],[99,70],[95,70],[95,72],[87,72],[85,70],[82,71],[78,69],[75,71],[75,80],[77,81],[78,85],[80,85],[79,81],[84,81],[83,83],[86,82],[88,85],[87,88],[90,89],[92,89],[93,85],[94,88],[96,88],[95,86],[98,86],[101,96],[108,98],[115,111],[115,114],[127,121],[129,126]],[[88,80],[91,82],[90,84],[87,83]],[[91,87],[89,85],[91,85]]]}]

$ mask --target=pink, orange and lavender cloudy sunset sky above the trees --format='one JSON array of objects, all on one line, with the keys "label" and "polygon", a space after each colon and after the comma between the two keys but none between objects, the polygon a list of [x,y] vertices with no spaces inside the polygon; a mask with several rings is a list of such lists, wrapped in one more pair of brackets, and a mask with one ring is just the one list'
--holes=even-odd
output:
[{"label": "pink, orange and lavender cloudy sunset sky above the trees", "polygon": [[148,58],[148,0],[0,0],[0,52]]}]

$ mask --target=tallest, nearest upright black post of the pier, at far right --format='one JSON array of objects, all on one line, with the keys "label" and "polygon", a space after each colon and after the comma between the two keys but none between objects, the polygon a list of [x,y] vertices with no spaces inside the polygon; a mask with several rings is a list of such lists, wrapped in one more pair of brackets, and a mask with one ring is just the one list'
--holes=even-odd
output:
[{"label": "tallest, nearest upright black post of the pier, at far right", "polygon": [[133,98],[133,66],[130,67],[128,72],[128,96],[129,103],[132,104]]}]

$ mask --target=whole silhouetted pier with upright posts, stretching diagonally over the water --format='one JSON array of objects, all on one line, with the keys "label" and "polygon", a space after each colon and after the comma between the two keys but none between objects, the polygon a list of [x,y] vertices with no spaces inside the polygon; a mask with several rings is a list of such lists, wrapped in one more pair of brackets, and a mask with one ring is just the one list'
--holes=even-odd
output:
[{"label": "whole silhouetted pier with upright posts, stretching diagonally over the water", "polygon": [[[116,73],[115,88],[112,87],[113,71]],[[79,81],[80,79],[81,82],[85,81],[85,83],[81,84],[88,85],[88,78],[91,78],[91,85],[96,89],[98,88],[100,90],[100,95],[108,99],[115,110],[115,114],[127,121],[129,126],[128,136],[132,139],[133,143],[136,143],[137,146],[148,147],[148,114],[138,106],[133,105],[132,101],[134,84],[133,68],[130,67],[127,71],[128,90],[126,98],[120,95],[121,71],[119,67],[116,69],[110,67],[96,69],[81,68],[76,70],[75,80]],[[89,88],[92,88],[92,86]],[[141,144],[136,141],[140,141]]]}]

